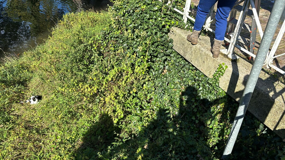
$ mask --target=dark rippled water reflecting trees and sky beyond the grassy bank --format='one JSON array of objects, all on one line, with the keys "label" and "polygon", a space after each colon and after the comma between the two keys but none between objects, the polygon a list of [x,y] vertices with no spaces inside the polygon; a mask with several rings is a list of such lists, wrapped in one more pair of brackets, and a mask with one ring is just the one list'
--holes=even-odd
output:
[{"label": "dark rippled water reflecting trees and sky beyond the grassy bank", "polygon": [[105,10],[109,0],[0,0],[0,58],[18,56],[50,35],[68,12]]}]

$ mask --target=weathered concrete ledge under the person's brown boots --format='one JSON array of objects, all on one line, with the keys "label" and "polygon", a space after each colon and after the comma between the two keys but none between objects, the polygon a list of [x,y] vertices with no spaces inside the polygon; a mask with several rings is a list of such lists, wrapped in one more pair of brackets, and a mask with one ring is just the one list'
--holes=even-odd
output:
[{"label": "weathered concrete ledge under the person's brown boots", "polygon": [[[228,68],[220,78],[220,87],[239,102],[252,64],[241,58],[239,61],[230,61],[223,55],[212,58],[210,48],[213,39],[200,36],[198,44],[192,45],[186,39],[188,34],[190,32],[186,30],[171,28],[169,37],[174,40],[174,50],[210,78],[219,64],[225,63]],[[278,83],[277,79],[261,71],[248,110],[285,141],[284,92],[284,84]]]}]

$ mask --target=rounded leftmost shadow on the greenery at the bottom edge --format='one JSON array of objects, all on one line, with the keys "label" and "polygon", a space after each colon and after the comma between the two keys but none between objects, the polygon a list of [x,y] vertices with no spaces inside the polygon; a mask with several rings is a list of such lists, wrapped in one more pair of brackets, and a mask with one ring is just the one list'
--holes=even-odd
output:
[{"label": "rounded leftmost shadow on the greenery at the bottom edge", "polygon": [[99,120],[83,135],[82,144],[75,152],[76,159],[97,159],[94,153],[110,146],[119,132],[120,128],[114,125],[112,117],[101,114]]}]

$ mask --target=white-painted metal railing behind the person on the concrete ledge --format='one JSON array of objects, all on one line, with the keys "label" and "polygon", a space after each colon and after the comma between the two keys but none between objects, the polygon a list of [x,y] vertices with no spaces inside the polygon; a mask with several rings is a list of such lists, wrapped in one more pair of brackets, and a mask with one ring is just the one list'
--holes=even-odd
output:
[{"label": "white-painted metal railing behind the person on the concrete ledge", "polygon": [[[233,54],[235,47],[238,48],[239,50],[245,52],[249,56],[252,56],[253,58],[256,57],[255,54],[249,52],[246,48],[243,48],[242,46],[237,45],[237,40],[239,38],[239,34],[241,32],[241,29],[242,29],[242,26],[244,24],[244,21],[245,21],[245,18],[246,18],[246,15],[247,15],[247,12],[249,10],[250,5],[251,5],[252,11],[253,11],[253,19],[255,19],[255,21],[256,21],[256,25],[257,25],[257,29],[258,29],[260,38],[262,39],[262,37],[263,37],[263,31],[262,31],[262,27],[261,27],[261,24],[260,24],[260,21],[258,18],[257,9],[255,8],[254,1],[253,0],[240,0],[240,1],[237,0],[237,3],[235,4],[235,6],[239,5],[242,2],[244,2],[244,3],[243,3],[243,7],[241,9],[241,12],[240,12],[240,16],[239,16],[237,25],[235,27],[235,31],[233,32],[233,34],[230,34],[231,39],[228,39],[227,37],[225,37],[225,41],[230,43],[229,48],[225,49],[225,50],[221,50],[221,52],[223,54],[226,54],[228,56],[228,58],[230,58],[232,60],[236,60],[238,58],[236,55]],[[186,0],[186,4],[185,4],[185,7],[183,8],[183,10],[184,10],[183,12],[180,11],[179,9],[174,8],[175,11],[177,11],[178,13],[183,15],[184,23],[187,23],[188,19],[195,22],[195,19],[189,15],[189,12],[191,12],[190,7],[191,7],[191,0]],[[215,19],[211,19],[211,15],[213,13],[213,10],[214,10],[214,6],[211,8],[209,14],[207,15],[203,29],[215,33],[215,30],[210,28],[211,22],[215,21]],[[279,32],[279,34],[278,34],[278,36],[274,42],[274,45],[273,45],[270,53],[268,51],[267,56],[266,56],[266,60],[264,61],[264,65],[266,65],[267,68],[271,67],[271,68],[275,69],[276,71],[282,73],[283,75],[285,75],[285,71],[274,66],[272,64],[272,61],[274,58],[285,55],[285,53],[283,53],[283,54],[280,54],[278,56],[274,56],[274,54],[278,48],[278,45],[279,45],[279,43],[280,43],[280,41],[284,35],[284,32],[285,32],[285,22],[283,22],[283,25],[282,25],[280,32]]]}]

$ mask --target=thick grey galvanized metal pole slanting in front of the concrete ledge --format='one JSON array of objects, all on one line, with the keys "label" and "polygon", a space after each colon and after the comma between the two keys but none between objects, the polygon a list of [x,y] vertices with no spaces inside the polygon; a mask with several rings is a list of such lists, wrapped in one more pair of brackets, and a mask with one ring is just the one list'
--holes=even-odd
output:
[{"label": "thick grey galvanized metal pole slanting in front of the concrete ledge", "polygon": [[251,99],[253,90],[257,83],[257,79],[259,77],[260,71],[262,69],[262,65],[265,61],[266,54],[269,50],[270,44],[272,42],[274,33],[276,31],[278,22],[281,18],[282,12],[284,10],[285,1],[284,0],[275,0],[269,20],[267,22],[265,32],[263,38],[260,42],[260,47],[257,52],[257,56],[253,63],[253,67],[251,69],[247,84],[243,91],[243,96],[241,98],[241,102],[239,103],[239,108],[237,110],[237,114],[235,116],[235,120],[233,122],[233,127],[229,134],[229,139],[225,146],[225,150],[222,156],[222,159],[225,159],[231,154],[233,150],[233,146],[235,144],[235,140],[237,139],[237,134],[239,133],[239,129],[241,128],[241,123],[243,122],[243,118],[245,116],[245,112],[247,110],[247,106]]}]

